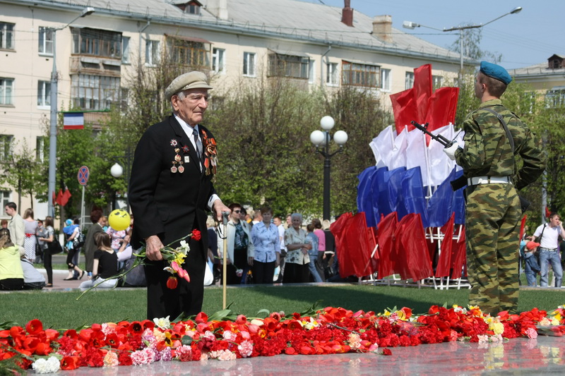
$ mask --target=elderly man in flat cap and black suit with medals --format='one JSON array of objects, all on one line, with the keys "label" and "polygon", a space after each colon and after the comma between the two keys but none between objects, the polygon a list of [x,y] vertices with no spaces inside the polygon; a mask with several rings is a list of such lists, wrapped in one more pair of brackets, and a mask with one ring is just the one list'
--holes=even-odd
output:
[{"label": "elderly man in flat cap and black suit with medals", "polygon": [[[179,75],[165,90],[173,114],[143,134],[136,148],[129,184],[129,202],[136,217],[131,243],[146,245],[148,319],[195,315],[202,308],[203,281],[208,250],[207,210],[218,219],[230,212],[215,194],[212,183],[216,167],[215,140],[200,125],[208,107],[206,75],[189,72]],[[201,231],[200,241],[190,238],[190,252],[184,269],[190,282],[179,279],[176,289],[167,288],[171,274],[163,270],[161,248],[193,230]]]}]

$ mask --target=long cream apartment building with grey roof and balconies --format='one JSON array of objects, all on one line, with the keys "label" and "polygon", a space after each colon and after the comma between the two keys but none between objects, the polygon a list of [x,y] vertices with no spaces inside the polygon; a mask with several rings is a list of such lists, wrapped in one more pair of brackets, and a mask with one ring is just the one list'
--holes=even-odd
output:
[{"label": "long cream apartment building with grey roof and balconies", "polygon": [[[412,87],[413,69],[424,63],[432,63],[438,87],[456,77],[458,54],[392,28],[391,16],[368,16],[348,3],[0,0],[0,162],[16,140],[26,140],[37,159],[47,157],[42,145],[54,58],[59,110],[103,111],[126,103],[124,78],[138,64],[157,65],[164,49],[208,73],[215,90],[283,76],[304,90],[371,90],[385,107],[388,95]],[[94,12],[79,17],[87,6]],[[85,121],[96,116],[87,112]],[[16,195],[13,187],[1,188],[3,204]],[[34,206],[36,217],[47,214],[47,204]]]}]

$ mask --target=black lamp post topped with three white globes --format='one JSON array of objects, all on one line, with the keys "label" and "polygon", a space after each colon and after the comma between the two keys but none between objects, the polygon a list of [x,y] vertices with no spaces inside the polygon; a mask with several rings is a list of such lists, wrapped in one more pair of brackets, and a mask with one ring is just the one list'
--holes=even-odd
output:
[{"label": "black lamp post topped with three white globes", "polygon": [[322,154],[323,161],[323,219],[330,220],[330,171],[331,171],[331,157],[338,152],[343,152],[343,145],[347,142],[347,133],[345,131],[337,131],[333,135],[333,141],[339,146],[335,152],[330,152],[330,135],[331,128],[333,128],[335,121],[331,116],[323,116],[320,120],[322,131],[316,130],[310,133],[310,141],[316,146],[316,152]]}]

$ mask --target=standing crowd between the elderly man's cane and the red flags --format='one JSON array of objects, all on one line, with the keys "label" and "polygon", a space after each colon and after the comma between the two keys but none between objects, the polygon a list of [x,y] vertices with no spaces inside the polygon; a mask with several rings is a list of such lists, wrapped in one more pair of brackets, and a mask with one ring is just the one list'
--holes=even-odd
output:
[{"label": "standing crowd between the elderly man's cane and the red flags", "polygon": [[329,277],[333,249],[326,247],[326,236],[331,233],[323,231],[319,219],[304,226],[302,214],[294,213],[284,225],[280,217],[273,217],[270,207],[251,214],[237,202],[229,208],[226,234],[221,224],[217,229],[213,221],[208,222],[208,234],[214,240],[208,244],[208,257],[217,283],[222,279],[224,247],[227,284],[323,282]]}]

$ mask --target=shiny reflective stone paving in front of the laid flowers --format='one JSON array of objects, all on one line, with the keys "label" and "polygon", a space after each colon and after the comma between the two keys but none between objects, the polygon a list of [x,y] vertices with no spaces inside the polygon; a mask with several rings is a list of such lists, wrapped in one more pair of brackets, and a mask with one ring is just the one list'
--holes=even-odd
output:
[{"label": "shiny reflective stone paving in front of the laid flowers", "polygon": [[[392,356],[348,353],[271,356],[222,362],[153,363],[145,366],[78,368],[61,376],[139,375],[563,375],[565,338],[511,339],[501,344],[446,344],[391,348]],[[32,372],[30,372],[32,373]]]}]

